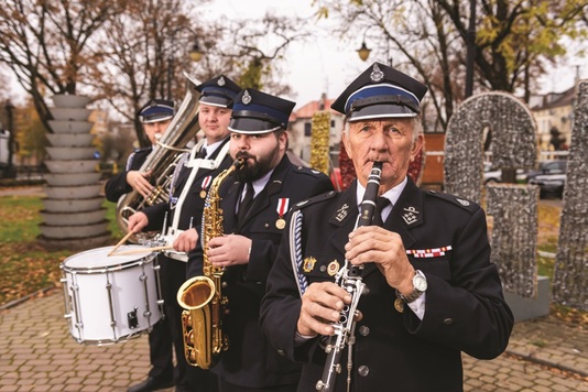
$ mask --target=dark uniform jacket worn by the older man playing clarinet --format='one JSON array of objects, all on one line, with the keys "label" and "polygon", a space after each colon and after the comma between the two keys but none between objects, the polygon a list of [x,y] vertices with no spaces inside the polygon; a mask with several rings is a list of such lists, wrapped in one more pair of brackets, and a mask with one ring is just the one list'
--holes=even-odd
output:
[{"label": "dark uniform jacket worn by the older man playing clarinet", "polygon": [[[356,184],[298,207],[303,214],[302,257],[306,260],[302,273],[308,284],[333,281],[329,264],[345,262],[344,247],[358,215]],[[401,236],[409,260],[427,279],[425,314],[420,320],[409,306],[399,313],[394,288],[374,264],[366,264],[362,276],[368,293],[358,305],[363,318],[356,326],[351,390],[461,391],[461,351],[492,359],[507,348],[513,326],[497,268],[489,261],[483,210],[455,196],[422,192],[409,179],[384,227]],[[268,277],[261,326],[276,350],[307,362],[298,391],[313,391],[326,355],[320,337],[295,345],[301,300],[288,229],[284,232]],[[311,258],[316,260],[314,264]],[[346,390],[347,355],[346,350],[341,356],[336,391]]]}]

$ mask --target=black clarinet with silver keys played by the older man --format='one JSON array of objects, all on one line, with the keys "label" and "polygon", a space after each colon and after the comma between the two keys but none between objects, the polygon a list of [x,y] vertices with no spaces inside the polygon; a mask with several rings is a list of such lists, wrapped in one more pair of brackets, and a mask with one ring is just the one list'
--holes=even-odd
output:
[{"label": "black clarinet with silver keys played by the older man", "polygon": [[[366,194],[361,200],[361,211],[358,216],[356,228],[370,226],[375,210],[375,200],[380,188],[380,177],[382,175],[382,162],[374,162],[366,185]],[[361,281],[361,271],[363,265],[349,265],[345,260],[344,266],[335,276],[335,283],[351,294],[351,303],[346,305],[339,315],[339,320],[333,324],[335,334],[329,336],[325,346],[327,361],[323,370],[323,377],[316,383],[317,391],[330,392],[335,389],[335,379],[341,372],[340,358],[350,339],[353,339],[352,331],[356,327],[353,320],[357,314],[359,297],[366,284]]]}]

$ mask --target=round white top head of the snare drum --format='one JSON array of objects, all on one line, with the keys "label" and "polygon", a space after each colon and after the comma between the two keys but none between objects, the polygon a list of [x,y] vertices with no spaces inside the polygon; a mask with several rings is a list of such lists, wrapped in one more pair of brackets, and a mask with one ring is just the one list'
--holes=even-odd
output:
[{"label": "round white top head of the snare drum", "polygon": [[[140,251],[142,249],[149,249],[143,246],[128,244],[121,246],[117,251],[108,255],[115,247],[104,247],[97,249],[90,249],[80,253],[68,257],[64,260],[63,265],[65,269],[79,270],[79,269],[101,269],[108,266],[122,266],[129,263],[134,263],[138,260],[144,259],[152,252],[149,250]],[[118,255],[117,253],[133,251],[132,254]]]}]

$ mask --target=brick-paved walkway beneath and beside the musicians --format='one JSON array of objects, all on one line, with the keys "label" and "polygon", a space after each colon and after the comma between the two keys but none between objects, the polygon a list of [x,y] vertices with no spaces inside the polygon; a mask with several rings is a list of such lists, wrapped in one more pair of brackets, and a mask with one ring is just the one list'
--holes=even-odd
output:
[{"label": "brick-paved walkway beneath and beside the musicians", "polygon": [[[145,377],[146,336],[112,346],[79,345],[63,314],[61,290],[0,311],[0,392],[126,391]],[[587,328],[551,317],[518,323],[498,359],[464,356],[465,390],[588,392]]]}]

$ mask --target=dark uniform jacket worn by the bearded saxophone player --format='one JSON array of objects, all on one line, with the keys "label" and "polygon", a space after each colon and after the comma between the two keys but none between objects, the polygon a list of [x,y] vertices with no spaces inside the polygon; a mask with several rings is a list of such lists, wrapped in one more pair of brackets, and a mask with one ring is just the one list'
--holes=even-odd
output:
[{"label": "dark uniform jacket worn by the bearded saxophone player", "polygon": [[[241,386],[271,390],[272,385],[296,385],[301,367],[279,356],[262,336],[259,306],[265,292],[268,273],[285,231],[276,227],[280,219],[279,200],[288,198],[291,208],[301,200],[331,190],[333,184],[325,174],[295,166],[284,155],[263,190],[253,199],[243,221],[238,224],[236,205],[242,188],[243,184],[239,182],[226,181],[219,190],[222,196],[224,232],[246,236],[252,239],[252,247],[249,264],[229,266],[222,275],[222,295],[229,300],[225,330],[230,346],[211,371]],[[202,258],[202,249],[190,257]]]}]

